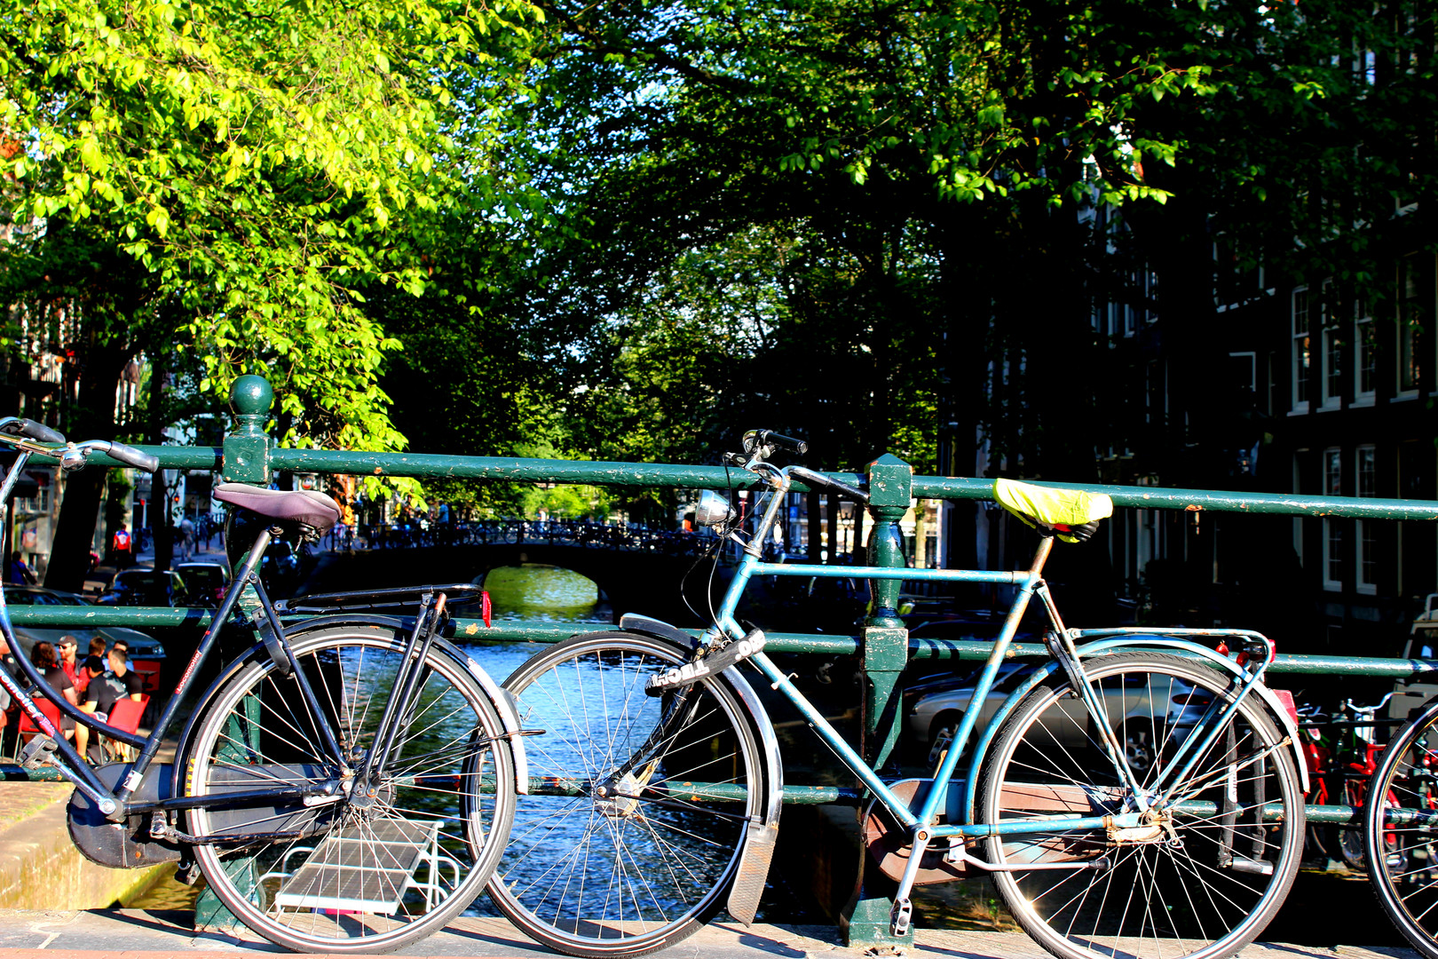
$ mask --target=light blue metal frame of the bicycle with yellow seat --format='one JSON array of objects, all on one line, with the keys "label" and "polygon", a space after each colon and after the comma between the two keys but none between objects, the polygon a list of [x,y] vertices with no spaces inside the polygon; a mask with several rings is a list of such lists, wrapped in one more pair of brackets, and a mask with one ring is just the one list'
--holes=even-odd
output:
[{"label": "light blue metal frame of the bicycle with yellow seat", "polygon": [[[1267,654],[1261,661],[1252,663],[1252,669],[1242,669],[1232,664],[1227,657],[1221,657],[1209,647],[1199,646],[1192,641],[1183,640],[1166,640],[1162,646],[1178,647],[1182,651],[1188,651],[1195,656],[1202,656],[1209,660],[1222,659],[1227,669],[1235,671],[1241,676],[1235,676],[1238,680],[1238,689],[1235,694],[1227,702],[1219,702],[1215,699],[1206,709],[1202,719],[1196,723],[1196,728],[1206,729],[1206,736],[1189,738],[1178,749],[1178,753],[1168,763],[1168,769],[1158,784],[1156,789],[1139,789],[1133,771],[1129,768],[1127,758],[1122,748],[1119,748],[1117,740],[1113,735],[1112,725],[1109,722],[1107,710],[1104,709],[1097,690],[1093,683],[1087,679],[1087,674],[1081,666],[1081,657],[1084,653],[1106,653],[1119,648],[1133,648],[1133,647],[1150,647],[1155,646],[1150,631],[1142,630],[1066,630],[1058,611],[1053,602],[1053,597],[1048,592],[1048,587],[1043,579],[1043,566],[1048,558],[1048,552],[1053,548],[1053,538],[1045,538],[1040,542],[1038,551],[1034,555],[1034,562],[1027,571],[972,571],[972,569],[910,569],[910,568],[892,568],[892,566],[840,566],[840,565],[815,565],[815,564],[774,564],[764,562],[759,556],[759,545],[764,543],[771,533],[774,523],[778,518],[778,512],[782,506],[782,493],[788,492],[788,476],[784,470],[777,470],[769,467],[771,477],[768,483],[771,490],[777,493],[764,516],[755,526],[755,532],[749,543],[745,546],[745,552],[739,561],[739,566],[731,581],[719,608],[715,611],[715,627],[710,627],[703,635],[703,641],[712,643],[719,640],[722,635],[729,638],[742,638],[745,630],[733,618],[738,610],[739,600],[743,595],[745,588],[756,575],[772,575],[772,577],[828,577],[828,578],[854,578],[854,579],[915,579],[920,582],[984,582],[995,585],[1014,585],[1018,588],[1012,605],[1004,620],[1002,628],[999,630],[998,638],[994,641],[994,648],[988,656],[988,660],[981,670],[978,683],[974,690],[968,706],[963,710],[963,719],[955,732],[953,742],[949,745],[948,753],[939,763],[935,772],[936,788],[928,791],[928,797],[917,812],[909,808],[906,799],[899,798],[889,785],[873,771],[869,763],[864,762],[863,756],[854,751],[853,746],[846,742],[846,739],[824,719],[823,715],[805,699],[804,693],[800,692],[789,679],[774,664],[774,661],[762,651],[754,654],[751,661],[759,669],[759,671],[769,680],[772,687],[781,693],[792,703],[792,706],[800,712],[807,723],[812,726],[820,739],[838,756],[843,762],[863,784],[864,786],[881,802],[889,812],[897,820],[897,822],[910,831],[920,843],[928,844],[935,838],[958,837],[958,838],[976,838],[984,835],[1009,835],[1009,834],[1025,834],[1025,832],[1047,832],[1054,828],[1053,818],[1038,818],[1034,820],[1011,820],[1005,822],[975,822],[975,779],[979,763],[992,742],[995,732],[998,730],[1002,719],[1007,713],[1018,703],[1018,700],[1034,689],[1038,682],[1051,676],[1057,669],[1063,669],[1068,677],[1074,682],[1076,689],[1083,697],[1084,706],[1089,716],[1094,720],[1096,728],[1100,730],[1103,738],[1104,749],[1109,759],[1113,762],[1114,769],[1120,775],[1120,781],[1133,788],[1133,795],[1136,801],[1136,808],[1112,815],[1112,817],[1064,817],[1064,825],[1070,828],[1102,828],[1106,825],[1113,825],[1117,828],[1129,828],[1140,824],[1145,811],[1155,802],[1168,802],[1172,799],[1172,785],[1165,786],[1165,784],[1182,782],[1183,776],[1192,769],[1194,763],[1205,753],[1205,751],[1212,746],[1219,730],[1224,728],[1227,720],[1237,713],[1242,700],[1255,689],[1260,689],[1258,680],[1263,676],[1264,669],[1273,659],[1273,647],[1267,644]],[[978,720],[979,710],[974,707],[975,703],[982,703],[994,687],[994,682],[998,676],[998,667],[1004,661],[1014,637],[1018,633],[1020,621],[1028,608],[1028,604],[1034,597],[1038,597],[1044,604],[1044,611],[1051,624],[1051,633],[1045,638],[1045,644],[1054,661],[1051,669],[1038,670],[1030,682],[1024,683],[1018,690],[1015,690],[1001,710],[994,716],[988,726],[982,730],[978,748],[974,751],[971,758],[968,789],[963,797],[963,802],[959,808],[961,822],[952,822],[946,825],[938,825],[938,815],[940,809],[946,808],[948,791],[951,788],[951,781],[955,771],[958,769],[959,758],[963,755],[968,746],[969,738],[974,735],[975,725]],[[1248,630],[1165,630],[1166,634],[1178,635],[1205,635],[1205,637],[1228,637],[1245,641],[1261,640],[1258,634]],[[1126,638],[1125,634],[1132,634]],[[1139,635],[1146,635],[1148,638],[1137,638]],[[1074,646],[1074,640],[1080,637],[1107,637],[1096,643],[1087,644],[1083,650]],[[1195,742],[1199,739],[1199,742]],[[1301,768],[1301,761],[1300,761]],[[1182,805],[1182,804],[1181,804]],[[909,858],[909,870],[916,871],[919,860],[922,857],[915,854]],[[969,858],[963,854],[965,861],[972,863],[979,868],[995,870],[1005,868],[1002,866],[989,864],[976,858]],[[1093,867],[1091,864],[1060,864],[1055,868],[1084,868]],[[1035,868],[1028,866],[1027,868]]]}]

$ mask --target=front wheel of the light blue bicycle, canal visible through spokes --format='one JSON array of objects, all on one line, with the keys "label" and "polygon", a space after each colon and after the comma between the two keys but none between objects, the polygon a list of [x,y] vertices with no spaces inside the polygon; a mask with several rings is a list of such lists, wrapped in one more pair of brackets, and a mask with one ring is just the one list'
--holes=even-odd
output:
[{"label": "front wheel of the light blue bicycle, canal visible through spokes", "polygon": [[[764,808],[758,739],[728,680],[697,682],[690,722],[646,753],[617,794],[598,794],[674,703],[647,696],[646,680],[687,659],[663,640],[592,633],[505,680],[523,728],[545,735],[525,739],[535,795],[519,797],[489,891],[535,942],[572,956],[640,956],[692,935],[723,903],[748,817]],[[735,799],[706,801],[695,792],[700,782]]]}]

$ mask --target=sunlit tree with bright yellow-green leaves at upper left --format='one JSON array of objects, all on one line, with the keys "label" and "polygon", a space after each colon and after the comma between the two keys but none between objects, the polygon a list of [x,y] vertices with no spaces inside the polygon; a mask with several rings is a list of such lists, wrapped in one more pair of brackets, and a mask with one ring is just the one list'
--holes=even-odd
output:
[{"label": "sunlit tree with bright yellow-green leaves at upper left", "polygon": [[[400,449],[377,385],[397,342],[362,290],[421,292],[440,208],[500,193],[480,98],[518,95],[536,16],[522,0],[39,0],[0,14],[0,173],[20,227],[3,292],[79,321],[89,395],[66,426],[114,433],[106,394],[129,358],[187,351],[206,393],[266,374],[288,443]],[[477,79],[460,104],[464,76]],[[55,282],[56,263],[73,282]],[[60,585],[78,584],[98,497],[95,483],[72,490]]]}]

